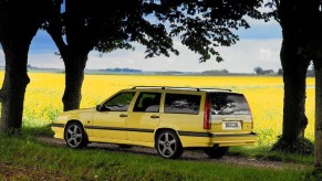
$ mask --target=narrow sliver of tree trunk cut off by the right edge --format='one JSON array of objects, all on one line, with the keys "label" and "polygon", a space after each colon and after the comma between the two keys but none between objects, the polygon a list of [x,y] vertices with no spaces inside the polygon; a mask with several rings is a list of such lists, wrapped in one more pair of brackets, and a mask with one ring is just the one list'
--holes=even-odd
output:
[{"label": "narrow sliver of tree trunk cut off by the right edge", "polygon": [[315,168],[322,171],[322,60],[314,61],[315,71]]}]

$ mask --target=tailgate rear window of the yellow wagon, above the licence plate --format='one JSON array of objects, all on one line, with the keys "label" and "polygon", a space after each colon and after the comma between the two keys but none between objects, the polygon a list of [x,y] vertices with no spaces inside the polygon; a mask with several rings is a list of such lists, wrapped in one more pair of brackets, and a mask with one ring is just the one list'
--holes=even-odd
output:
[{"label": "tailgate rear window of the yellow wagon, above the licence plate", "polygon": [[250,109],[241,94],[210,94],[211,115],[249,115]]}]

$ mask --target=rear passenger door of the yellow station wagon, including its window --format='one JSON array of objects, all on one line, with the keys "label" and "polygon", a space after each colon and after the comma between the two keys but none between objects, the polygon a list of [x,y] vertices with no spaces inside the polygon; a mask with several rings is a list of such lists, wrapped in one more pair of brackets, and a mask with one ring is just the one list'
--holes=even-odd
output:
[{"label": "rear passenger door of the yellow station wagon, including its window", "polygon": [[162,93],[139,93],[133,110],[128,113],[127,138],[133,141],[154,141],[154,130],[159,124]]}]

